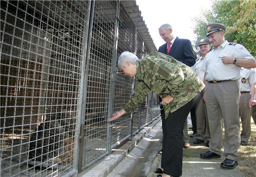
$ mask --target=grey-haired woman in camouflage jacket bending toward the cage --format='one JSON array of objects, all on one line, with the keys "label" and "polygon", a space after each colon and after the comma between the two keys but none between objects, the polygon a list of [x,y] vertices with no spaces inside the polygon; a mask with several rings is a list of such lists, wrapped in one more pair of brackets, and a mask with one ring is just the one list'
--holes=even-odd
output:
[{"label": "grey-haired woman in camouflage jacket bending toward the cage", "polygon": [[125,75],[137,79],[134,95],[119,112],[108,120],[111,122],[142,103],[154,91],[165,106],[163,119],[162,177],[181,176],[183,156],[184,122],[193,106],[194,98],[204,84],[187,65],[168,55],[153,52],[138,60],[131,52],[123,52],[118,67]]}]

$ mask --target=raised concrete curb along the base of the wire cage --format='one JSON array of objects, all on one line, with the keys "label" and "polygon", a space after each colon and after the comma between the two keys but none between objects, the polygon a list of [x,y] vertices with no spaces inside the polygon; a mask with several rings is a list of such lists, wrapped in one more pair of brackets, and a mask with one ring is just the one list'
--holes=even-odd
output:
[{"label": "raised concrete curb along the base of the wire cage", "polygon": [[151,129],[159,121],[159,116],[151,124],[145,126],[139,133],[135,134],[130,140],[125,141],[124,144],[114,148],[111,155],[107,155],[99,160],[94,165],[90,166],[87,170],[78,174],[79,177],[106,177],[117,165],[127,156],[127,154],[139,143]]}]

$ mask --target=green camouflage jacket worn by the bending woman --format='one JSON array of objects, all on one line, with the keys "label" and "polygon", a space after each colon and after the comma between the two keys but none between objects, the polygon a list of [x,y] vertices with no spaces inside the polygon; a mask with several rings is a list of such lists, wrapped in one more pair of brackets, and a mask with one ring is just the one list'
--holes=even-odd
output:
[{"label": "green camouflage jacket worn by the bending woman", "polygon": [[152,52],[136,62],[135,77],[138,83],[124,111],[130,112],[154,91],[160,98],[167,95],[174,98],[165,106],[165,119],[169,112],[187,104],[204,88],[203,82],[190,67],[159,52]]}]

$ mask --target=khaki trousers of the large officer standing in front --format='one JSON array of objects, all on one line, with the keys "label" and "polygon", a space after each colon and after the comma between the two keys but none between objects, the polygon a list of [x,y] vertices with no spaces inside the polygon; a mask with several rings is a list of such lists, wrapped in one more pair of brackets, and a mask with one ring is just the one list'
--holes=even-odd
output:
[{"label": "khaki trousers of the large officer standing in front", "polygon": [[221,155],[222,125],[224,121],[224,154],[227,159],[238,161],[237,150],[240,146],[239,121],[239,82],[238,80],[208,83],[206,87],[206,108],[211,134],[210,151]]}]

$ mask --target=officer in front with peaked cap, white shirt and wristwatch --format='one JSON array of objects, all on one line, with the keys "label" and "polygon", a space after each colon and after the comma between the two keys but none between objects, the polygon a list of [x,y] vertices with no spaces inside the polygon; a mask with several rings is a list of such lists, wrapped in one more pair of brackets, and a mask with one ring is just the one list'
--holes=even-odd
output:
[{"label": "officer in front with peaked cap, white shirt and wristwatch", "polygon": [[206,26],[207,36],[213,48],[205,57],[201,70],[205,72],[204,100],[211,134],[210,151],[200,155],[203,159],[221,157],[222,126],[224,120],[226,159],[221,167],[233,169],[238,165],[237,149],[240,146],[239,82],[240,69],[256,67],[255,59],[241,44],[225,40],[226,27],[211,23]]}]

